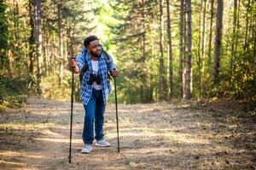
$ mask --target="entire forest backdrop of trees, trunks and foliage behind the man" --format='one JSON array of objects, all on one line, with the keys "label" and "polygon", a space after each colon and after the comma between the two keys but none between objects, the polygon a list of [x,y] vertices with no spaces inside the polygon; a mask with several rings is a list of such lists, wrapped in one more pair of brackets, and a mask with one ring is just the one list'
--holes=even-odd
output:
[{"label": "entire forest backdrop of trees, trunks and foliage behind the man", "polygon": [[[70,99],[67,62],[81,53],[89,35],[99,37],[113,55],[120,72],[121,103],[255,99],[252,0],[2,0],[0,4],[0,85],[6,105],[29,94]],[[77,79],[75,91],[79,100]]]}]

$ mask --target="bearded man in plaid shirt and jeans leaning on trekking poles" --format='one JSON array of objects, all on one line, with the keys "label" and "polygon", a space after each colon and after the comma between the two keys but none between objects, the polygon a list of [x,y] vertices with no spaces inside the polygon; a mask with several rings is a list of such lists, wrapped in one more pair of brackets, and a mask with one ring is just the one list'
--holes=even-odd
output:
[{"label": "bearded man in plaid shirt and jeans leaning on trekking poles", "polygon": [[81,79],[81,97],[84,105],[84,147],[81,152],[90,153],[94,140],[94,123],[95,145],[110,146],[103,138],[104,112],[111,91],[108,72],[112,77],[118,77],[119,72],[113,65],[112,57],[103,51],[97,37],[86,37],[84,48],[77,60],[70,59],[69,66],[76,74],[86,68]]}]

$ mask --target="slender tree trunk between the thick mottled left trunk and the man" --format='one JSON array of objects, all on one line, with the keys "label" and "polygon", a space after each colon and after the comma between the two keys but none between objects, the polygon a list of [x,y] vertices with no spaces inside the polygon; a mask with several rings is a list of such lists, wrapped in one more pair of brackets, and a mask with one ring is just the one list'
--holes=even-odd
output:
[{"label": "slender tree trunk between the thick mottled left trunk and the man", "polygon": [[60,62],[59,85],[61,85],[63,81],[63,42],[61,37],[61,0],[58,0],[58,37],[59,37],[59,62]]}]

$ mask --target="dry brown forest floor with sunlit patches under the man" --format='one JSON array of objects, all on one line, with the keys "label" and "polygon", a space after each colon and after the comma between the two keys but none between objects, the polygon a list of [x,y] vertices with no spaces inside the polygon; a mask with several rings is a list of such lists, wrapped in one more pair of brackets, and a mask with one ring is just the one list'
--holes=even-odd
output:
[{"label": "dry brown forest floor with sunlit patches under the man", "polygon": [[[233,109],[230,109],[233,108]],[[81,154],[83,105],[74,104],[68,163],[70,103],[27,99],[0,116],[0,169],[255,169],[256,115],[230,100],[119,105],[105,116],[108,148]]]}]

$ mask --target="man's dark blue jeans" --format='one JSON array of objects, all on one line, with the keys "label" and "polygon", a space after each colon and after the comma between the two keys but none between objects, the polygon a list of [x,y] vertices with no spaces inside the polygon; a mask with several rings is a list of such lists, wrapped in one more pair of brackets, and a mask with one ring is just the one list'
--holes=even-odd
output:
[{"label": "man's dark blue jeans", "polygon": [[87,105],[84,105],[84,144],[92,144],[94,140],[94,122],[96,140],[101,140],[104,137],[103,123],[105,104],[103,102],[102,90],[92,89],[92,94]]}]

